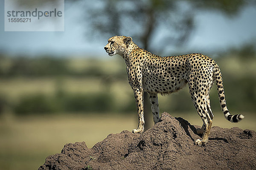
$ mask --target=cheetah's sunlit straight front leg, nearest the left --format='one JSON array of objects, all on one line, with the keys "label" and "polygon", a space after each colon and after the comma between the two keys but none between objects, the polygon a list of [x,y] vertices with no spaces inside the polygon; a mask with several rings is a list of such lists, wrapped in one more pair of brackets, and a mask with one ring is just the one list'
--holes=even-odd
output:
[{"label": "cheetah's sunlit straight front leg, nearest the left", "polygon": [[134,97],[138,113],[138,128],[132,130],[132,133],[143,133],[144,131],[144,115],[143,115],[143,88],[134,88]]}]

